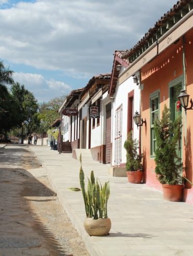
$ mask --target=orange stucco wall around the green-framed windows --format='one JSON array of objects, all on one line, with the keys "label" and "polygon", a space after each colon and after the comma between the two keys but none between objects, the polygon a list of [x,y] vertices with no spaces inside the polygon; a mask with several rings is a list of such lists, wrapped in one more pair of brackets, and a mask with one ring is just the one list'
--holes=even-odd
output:
[{"label": "orange stucco wall around the green-framed windows", "polygon": [[[193,99],[193,29],[185,35],[185,56],[186,56],[186,74],[187,74],[187,93]],[[160,117],[164,104],[170,107],[169,83],[183,75],[183,40],[182,38],[169,46],[159,56],[156,56],[150,63],[141,69],[141,116],[146,118],[147,125],[141,127],[141,149],[144,154],[143,167],[145,179],[148,185],[161,190],[161,184],[155,177],[155,162],[150,156],[150,95],[159,90],[160,92]],[[186,176],[192,181],[192,161],[193,152],[193,111],[187,111],[187,117],[183,118],[183,144],[187,137],[187,145],[183,145],[183,164],[187,167]],[[186,136],[187,131],[187,136]],[[193,130],[192,130],[193,131]],[[188,188],[191,186],[186,185]],[[191,193],[189,191],[188,193]],[[193,199],[193,192],[192,192]],[[188,197],[188,196],[187,196]],[[190,200],[191,201],[191,200]],[[193,203],[193,200],[192,200]]]}]

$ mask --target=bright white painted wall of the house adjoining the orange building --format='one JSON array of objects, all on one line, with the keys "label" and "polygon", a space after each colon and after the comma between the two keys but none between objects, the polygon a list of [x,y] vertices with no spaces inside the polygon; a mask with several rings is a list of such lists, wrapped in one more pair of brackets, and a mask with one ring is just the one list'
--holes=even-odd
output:
[{"label": "bright white painted wall of the house adjoining the orange building", "polygon": [[[118,82],[117,82],[118,83]],[[126,162],[126,150],[124,148],[124,142],[127,138],[127,111],[128,111],[128,93],[134,90],[134,107],[133,111],[140,112],[140,89],[139,86],[134,84],[133,78],[129,77],[123,84],[117,85],[114,94],[113,110],[112,110],[112,166],[114,166],[115,160],[115,113],[116,109],[122,105],[122,163]],[[134,139],[139,140],[139,130],[134,123]]]}]

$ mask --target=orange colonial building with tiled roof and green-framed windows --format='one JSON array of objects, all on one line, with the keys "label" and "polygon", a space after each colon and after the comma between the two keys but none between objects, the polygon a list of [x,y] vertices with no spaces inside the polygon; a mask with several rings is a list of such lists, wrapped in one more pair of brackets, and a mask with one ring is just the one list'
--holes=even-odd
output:
[{"label": "orange colonial building with tiled roof and green-framed windows", "polygon": [[[155,176],[154,120],[161,118],[164,104],[171,110],[171,120],[183,118],[182,137],[178,143],[178,155],[182,157],[184,172],[192,182],[191,136],[193,111],[180,106],[178,96],[184,89],[193,97],[193,1],[178,1],[174,7],[156,22],[148,33],[129,51],[123,54],[129,66],[120,74],[119,84],[128,77],[140,73],[140,114],[146,119],[141,127],[141,151],[143,169],[148,185],[162,189]],[[189,103],[190,106],[190,103]],[[193,203],[193,190],[185,184],[184,201]]]}]

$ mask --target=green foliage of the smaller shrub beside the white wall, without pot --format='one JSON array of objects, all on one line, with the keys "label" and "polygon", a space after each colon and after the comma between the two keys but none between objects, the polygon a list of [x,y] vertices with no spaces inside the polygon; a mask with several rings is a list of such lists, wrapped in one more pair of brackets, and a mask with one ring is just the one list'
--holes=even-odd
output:
[{"label": "green foliage of the smaller shrub beside the white wall, without pot", "polygon": [[137,139],[132,139],[131,132],[128,133],[127,139],[124,143],[124,148],[127,151],[127,162],[126,170],[128,171],[137,171],[142,169],[141,159],[142,155],[137,153],[138,142]]}]

